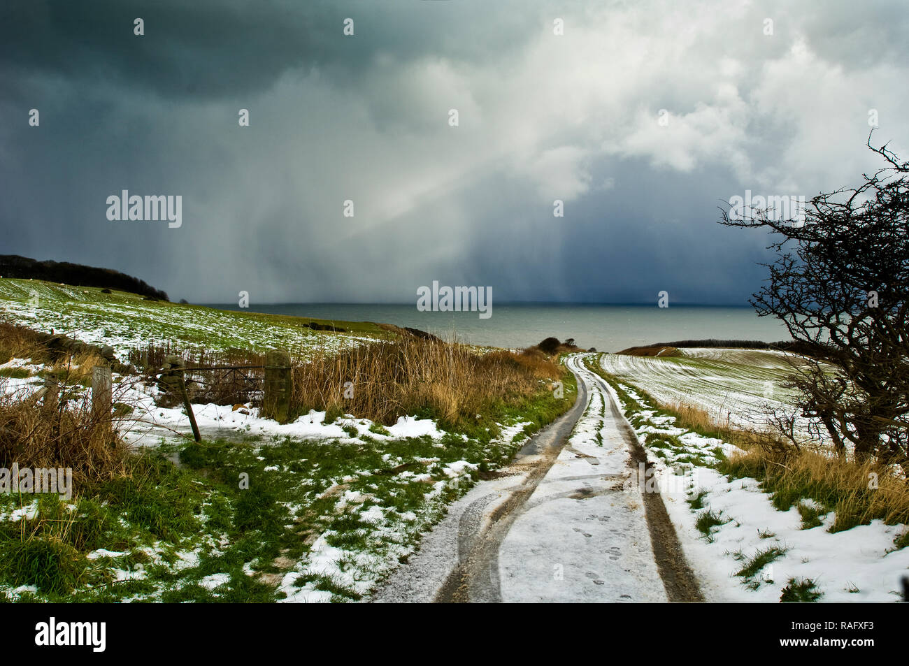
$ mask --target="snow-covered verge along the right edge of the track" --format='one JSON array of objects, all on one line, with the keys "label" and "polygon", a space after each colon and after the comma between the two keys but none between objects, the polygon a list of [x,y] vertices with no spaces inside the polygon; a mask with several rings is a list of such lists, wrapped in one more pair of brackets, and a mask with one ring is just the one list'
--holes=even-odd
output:
[{"label": "snow-covered verge along the right edge of the track", "polygon": [[[604,358],[609,367],[614,357]],[[756,480],[715,469],[734,446],[678,427],[629,383],[611,390],[654,462],[654,482],[707,601],[781,601],[790,582],[812,583],[816,601],[902,601],[909,548],[897,549],[894,540],[909,527],[875,520],[828,532],[834,512],[803,500],[821,511],[821,524],[806,527],[797,506],[779,511]]]}]

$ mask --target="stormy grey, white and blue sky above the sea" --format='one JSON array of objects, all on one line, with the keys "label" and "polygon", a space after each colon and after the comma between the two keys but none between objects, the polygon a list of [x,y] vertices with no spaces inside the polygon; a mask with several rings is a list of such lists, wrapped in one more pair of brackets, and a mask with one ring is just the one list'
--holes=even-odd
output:
[{"label": "stormy grey, white and blue sky above the sea", "polygon": [[0,253],[195,303],[744,304],[768,238],[718,206],[856,184],[872,115],[905,158],[906,35],[898,0],[4,0]]}]

